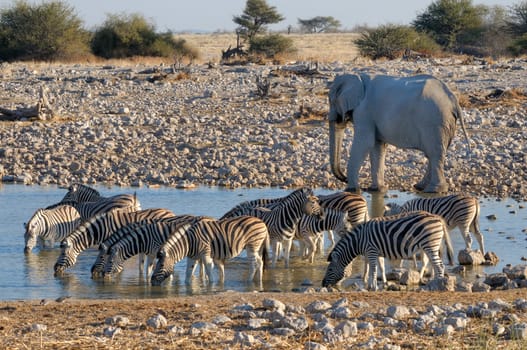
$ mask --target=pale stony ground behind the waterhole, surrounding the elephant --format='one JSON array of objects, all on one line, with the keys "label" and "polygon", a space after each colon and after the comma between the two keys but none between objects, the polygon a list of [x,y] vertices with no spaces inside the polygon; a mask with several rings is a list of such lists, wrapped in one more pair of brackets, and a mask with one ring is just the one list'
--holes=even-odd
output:
[{"label": "pale stony ground behind the waterhole, surrounding the elephant", "polygon": [[[0,122],[0,178],[25,184],[343,189],[328,164],[327,84],[336,74],[433,74],[458,94],[450,192],[527,199],[526,59],[196,65],[0,66],[0,106],[31,106],[48,91],[55,118]],[[268,85],[265,85],[268,83]],[[261,88],[268,87],[267,90]],[[349,147],[348,131],[344,147]],[[344,153],[344,156],[347,152]],[[411,191],[418,152],[390,147],[386,182]],[[369,162],[361,171],[369,183]]]}]

